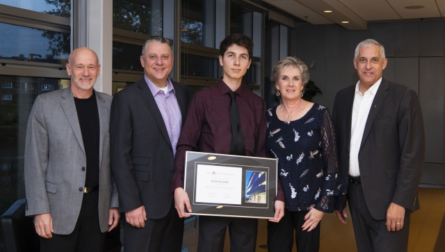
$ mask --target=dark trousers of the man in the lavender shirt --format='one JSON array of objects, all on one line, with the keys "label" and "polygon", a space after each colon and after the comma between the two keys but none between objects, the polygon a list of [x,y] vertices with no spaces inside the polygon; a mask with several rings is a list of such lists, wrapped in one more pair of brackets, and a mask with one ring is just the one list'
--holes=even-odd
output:
[{"label": "dark trousers of the man in the lavender shirt", "polygon": [[184,219],[179,218],[175,201],[161,219],[147,219],[145,227],[136,228],[124,221],[125,252],[180,252],[184,235]]}]

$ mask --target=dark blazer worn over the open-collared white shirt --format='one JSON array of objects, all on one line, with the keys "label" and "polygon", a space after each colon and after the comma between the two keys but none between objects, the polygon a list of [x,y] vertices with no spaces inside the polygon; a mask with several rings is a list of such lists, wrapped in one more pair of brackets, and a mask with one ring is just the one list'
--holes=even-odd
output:
[{"label": "dark blazer worn over the open-collared white shirt", "polygon": [[[355,85],[339,91],[332,111],[344,181],[349,176],[354,95]],[[403,85],[382,79],[359,150],[364,200],[374,219],[386,219],[391,202],[409,211],[419,209],[417,189],[424,156],[425,133],[419,97]]]}]

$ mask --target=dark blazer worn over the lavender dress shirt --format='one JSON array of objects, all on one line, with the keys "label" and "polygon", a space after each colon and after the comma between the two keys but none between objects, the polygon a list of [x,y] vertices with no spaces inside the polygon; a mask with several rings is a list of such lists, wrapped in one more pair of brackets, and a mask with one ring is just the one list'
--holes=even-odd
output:
[{"label": "dark blazer worn over the lavender dress shirt", "polygon": [[[172,81],[186,121],[188,87]],[[145,206],[147,219],[165,217],[172,205],[171,176],[175,166],[167,128],[145,79],[113,97],[110,121],[111,169],[120,212]]]}]

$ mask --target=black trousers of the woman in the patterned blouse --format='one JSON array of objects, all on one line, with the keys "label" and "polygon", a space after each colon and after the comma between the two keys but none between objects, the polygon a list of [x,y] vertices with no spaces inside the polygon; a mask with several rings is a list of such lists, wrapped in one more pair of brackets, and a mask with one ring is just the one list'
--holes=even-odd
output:
[{"label": "black trousers of the woman in the patterned blouse", "polygon": [[292,251],[293,230],[296,230],[295,240],[298,252],[316,252],[320,248],[320,226],[311,232],[303,231],[305,224],[305,215],[309,211],[289,212],[284,210],[284,217],[280,222],[270,222],[267,224],[267,249],[269,252],[287,252]]}]

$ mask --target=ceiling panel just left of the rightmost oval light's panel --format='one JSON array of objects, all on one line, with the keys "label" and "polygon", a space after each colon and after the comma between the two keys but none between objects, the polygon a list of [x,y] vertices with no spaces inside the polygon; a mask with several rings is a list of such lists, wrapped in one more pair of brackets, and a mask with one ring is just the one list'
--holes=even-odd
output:
[{"label": "ceiling panel just left of the rightmost oval light's panel", "polygon": [[[336,0],[366,21],[397,20],[401,17],[386,0]],[[444,0],[445,1],[445,0]]]}]

